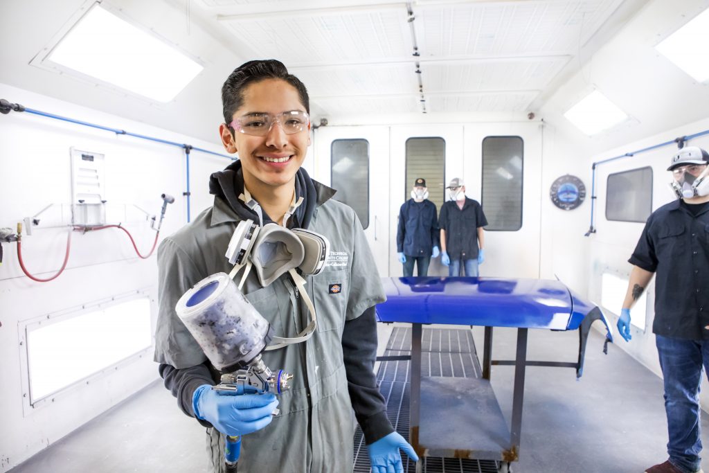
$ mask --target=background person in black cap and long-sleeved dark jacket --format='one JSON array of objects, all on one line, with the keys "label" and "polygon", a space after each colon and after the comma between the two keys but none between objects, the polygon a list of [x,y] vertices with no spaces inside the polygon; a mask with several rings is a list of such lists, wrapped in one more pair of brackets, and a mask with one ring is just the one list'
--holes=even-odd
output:
[{"label": "background person in black cap and long-sleeved dark jacket", "polygon": [[419,177],[413,184],[411,199],[404,202],[399,210],[396,251],[403,265],[404,277],[413,276],[414,263],[418,276],[428,276],[431,257],[438,256],[436,213],[435,204],[428,200],[426,180]]}]

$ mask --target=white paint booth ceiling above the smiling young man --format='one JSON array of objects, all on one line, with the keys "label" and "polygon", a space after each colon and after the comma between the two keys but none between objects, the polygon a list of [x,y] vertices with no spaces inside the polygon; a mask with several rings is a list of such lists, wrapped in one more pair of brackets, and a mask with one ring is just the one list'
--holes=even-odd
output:
[{"label": "white paint booth ceiling above the smiling young man", "polygon": [[424,112],[430,120],[452,113],[521,119],[647,3],[104,0],[206,66],[174,101],[155,104],[29,65],[91,1],[4,0],[0,82],[216,141],[223,80],[246,60],[274,57],[308,87],[316,122],[385,113],[404,122]]}]

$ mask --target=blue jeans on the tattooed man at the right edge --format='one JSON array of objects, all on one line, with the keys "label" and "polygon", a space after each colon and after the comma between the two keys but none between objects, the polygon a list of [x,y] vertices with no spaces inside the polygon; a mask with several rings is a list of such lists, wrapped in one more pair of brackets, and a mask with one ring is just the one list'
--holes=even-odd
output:
[{"label": "blue jeans on the tattooed man at the right edge", "polygon": [[699,386],[702,365],[709,373],[709,341],[655,335],[655,344],[664,376],[669,461],[683,472],[696,472],[702,450]]}]

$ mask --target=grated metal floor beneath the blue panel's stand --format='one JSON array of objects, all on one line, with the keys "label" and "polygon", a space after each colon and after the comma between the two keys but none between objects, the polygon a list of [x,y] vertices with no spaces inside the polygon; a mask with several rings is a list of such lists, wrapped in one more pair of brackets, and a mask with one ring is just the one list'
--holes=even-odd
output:
[{"label": "grated metal floor beneath the blue panel's stand", "polygon": [[[480,377],[475,343],[470,330],[424,328],[421,340],[423,376]],[[395,327],[386,344],[384,356],[411,353],[411,328]],[[409,361],[381,362],[376,378],[386,400],[386,413],[396,431],[408,440]],[[404,472],[415,473],[415,464],[403,460]],[[354,435],[354,473],[369,473],[369,457],[362,431]],[[425,457],[424,473],[496,473],[492,460],[460,460]]]}]

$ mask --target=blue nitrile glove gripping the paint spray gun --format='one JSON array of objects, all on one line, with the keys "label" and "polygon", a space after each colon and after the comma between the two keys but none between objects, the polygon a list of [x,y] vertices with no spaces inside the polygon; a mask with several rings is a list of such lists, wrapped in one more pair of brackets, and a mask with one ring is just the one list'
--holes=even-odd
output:
[{"label": "blue nitrile glove gripping the paint spray gun", "polygon": [[246,435],[260,430],[272,421],[278,400],[272,393],[219,394],[209,384],[202,384],[192,395],[192,408],[197,418],[225,435]]}]

